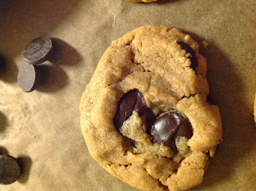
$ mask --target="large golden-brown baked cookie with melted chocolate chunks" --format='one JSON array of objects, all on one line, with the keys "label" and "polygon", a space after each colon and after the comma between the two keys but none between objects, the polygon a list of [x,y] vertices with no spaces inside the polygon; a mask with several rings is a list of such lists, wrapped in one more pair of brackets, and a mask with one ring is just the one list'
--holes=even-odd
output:
[{"label": "large golden-brown baked cookie with melted chocolate chunks", "polygon": [[104,52],[81,98],[92,157],[141,190],[199,185],[221,135],[205,57],[188,34],[143,26]]}]

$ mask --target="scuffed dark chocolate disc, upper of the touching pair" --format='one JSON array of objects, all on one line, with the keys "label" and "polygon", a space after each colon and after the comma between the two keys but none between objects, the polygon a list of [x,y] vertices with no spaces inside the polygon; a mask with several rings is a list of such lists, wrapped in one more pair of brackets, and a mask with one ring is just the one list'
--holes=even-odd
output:
[{"label": "scuffed dark chocolate disc, upper of the touching pair", "polygon": [[35,38],[26,45],[23,50],[23,56],[26,63],[36,65],[44,63],[51,57],[52,54],[52,41],[47,37]]}]

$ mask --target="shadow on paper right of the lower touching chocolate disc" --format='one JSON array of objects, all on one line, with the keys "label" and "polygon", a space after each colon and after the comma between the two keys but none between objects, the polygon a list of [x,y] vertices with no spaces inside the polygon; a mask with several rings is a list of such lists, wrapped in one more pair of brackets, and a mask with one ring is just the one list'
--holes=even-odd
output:
[{"label": "shadow on paper right of the lower touching chocolate disc", "polygon": [[54,92],[65,87],[68,83],[67,73],[59,66],[44,63],[37,66],[40,70],[41,80],[36,90],[43,92]]}]

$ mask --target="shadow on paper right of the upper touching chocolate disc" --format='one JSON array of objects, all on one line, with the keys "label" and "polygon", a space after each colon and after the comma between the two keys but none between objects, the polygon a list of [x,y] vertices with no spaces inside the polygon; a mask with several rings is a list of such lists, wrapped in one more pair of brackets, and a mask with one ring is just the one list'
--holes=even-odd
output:
[{"label": "shadow on paper right of the upper touching chocolate disc", "polygon": [[49,58],[49,61],[52,64],[74,66],[81,62],[82,57],[74,47],[59,38],[51,38],[51,40],[54,53]]}]

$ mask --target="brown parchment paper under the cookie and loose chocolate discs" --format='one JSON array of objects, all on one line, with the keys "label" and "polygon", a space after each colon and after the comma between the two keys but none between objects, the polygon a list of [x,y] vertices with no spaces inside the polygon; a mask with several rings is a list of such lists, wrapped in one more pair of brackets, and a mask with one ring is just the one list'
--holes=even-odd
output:
[{"label": "brown parchment paper under the cookie and loose chocolate discs", "polygon": [[[22,174],[0,190],[136,190],[90,157],[79,103],[110,43],[148,24],[181,29],[201,47],[209,42],[201,53],[223,142],[192,190],[256,190],[255,10],[255,0],[1,0],[0,154],[18,158]],[[40,86],[23,93],[17,85],[22,50],[39,36],[51,37],[55,52],[40,65]]]}]

